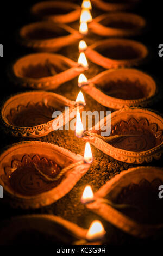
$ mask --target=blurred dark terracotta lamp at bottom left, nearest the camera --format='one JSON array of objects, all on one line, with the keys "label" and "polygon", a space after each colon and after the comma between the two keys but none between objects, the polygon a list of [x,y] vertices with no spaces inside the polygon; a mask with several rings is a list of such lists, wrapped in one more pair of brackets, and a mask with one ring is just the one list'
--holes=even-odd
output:
[{"label": "blurred dark terracotta lamp at bottom left, nearest the camera", "polygon": [[86,230],[61,217],[35,214],[1,223],[0,245],[72,245],[84,239]]}]

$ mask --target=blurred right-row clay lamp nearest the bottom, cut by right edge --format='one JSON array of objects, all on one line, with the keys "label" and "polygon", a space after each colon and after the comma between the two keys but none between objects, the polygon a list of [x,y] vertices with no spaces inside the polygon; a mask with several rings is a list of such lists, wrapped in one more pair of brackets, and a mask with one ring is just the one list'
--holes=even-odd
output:
[{"label": "blurred right-row clay lamp nearest the bottom, cut by right edge", "polygon": [[130,168],[106,182],[85,205],[129,235],[153,236],[163,227],[162,182],[162,168]]}]

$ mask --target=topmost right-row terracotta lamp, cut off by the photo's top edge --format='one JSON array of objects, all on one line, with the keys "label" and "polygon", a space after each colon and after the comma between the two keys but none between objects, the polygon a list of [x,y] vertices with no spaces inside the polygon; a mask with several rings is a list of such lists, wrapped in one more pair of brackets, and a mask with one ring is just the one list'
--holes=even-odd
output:
[{"label": "topmost right-row terracotta lamp, cut off by the photo's top edge", "polygon": [[91,0],[92,5],[106,12],[130,10],[139,2],[140,0]]}]

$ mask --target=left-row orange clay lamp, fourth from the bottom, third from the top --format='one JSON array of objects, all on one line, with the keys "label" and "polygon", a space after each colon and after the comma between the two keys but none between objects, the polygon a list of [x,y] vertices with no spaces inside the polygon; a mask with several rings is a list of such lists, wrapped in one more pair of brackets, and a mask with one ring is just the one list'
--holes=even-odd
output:
[{"label": "left-row orange clay lamp, fourth from the bottom, third from the top", "polygon": [[35,53],[18,59],[9,70],[12,82],[37,90],[53,90],[84,71],[82,66],[59,54]]}]

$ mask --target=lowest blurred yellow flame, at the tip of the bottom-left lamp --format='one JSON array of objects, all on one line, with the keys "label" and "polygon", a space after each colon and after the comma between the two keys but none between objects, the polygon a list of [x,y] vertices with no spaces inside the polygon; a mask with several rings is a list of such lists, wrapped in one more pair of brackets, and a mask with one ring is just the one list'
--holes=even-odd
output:
[{"label": "lowest blurred yellow flame, at the tip of the bottom-left lamp", "polygon": [[96,220],[96,221],[93,221],[92,224],[90,225],[90,228],[86,234],[86,239],[87,240],[102,239],[105,233],[106,232],[102,223]]}]

